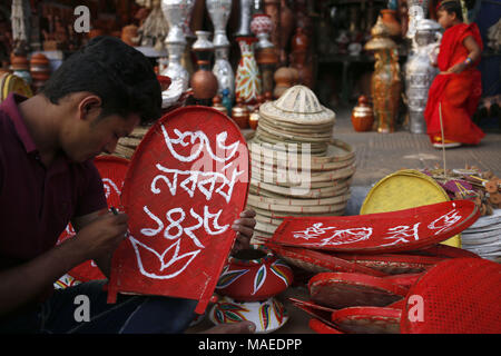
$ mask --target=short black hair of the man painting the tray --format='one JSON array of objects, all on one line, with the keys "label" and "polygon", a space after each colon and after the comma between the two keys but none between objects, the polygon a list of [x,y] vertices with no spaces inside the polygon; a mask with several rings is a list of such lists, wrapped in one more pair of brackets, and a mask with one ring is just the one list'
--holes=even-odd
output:
[{"label": "short black hair of the man painting the tray", "polygon": [[149,60],[120,39],[96,37],[71,55],[42,89],[52,103],[89,91],[102,100],[101,115],[139,115],[141,123],[161,116],[161,89]]}]

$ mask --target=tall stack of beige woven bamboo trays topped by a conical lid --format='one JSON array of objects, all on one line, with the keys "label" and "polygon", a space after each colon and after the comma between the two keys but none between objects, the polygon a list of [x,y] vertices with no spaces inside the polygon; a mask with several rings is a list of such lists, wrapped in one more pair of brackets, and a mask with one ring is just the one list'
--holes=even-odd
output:
[{"label": "tall stack of beige woven bamboo trays topped by a conical lid", "polygon": [[248,139],[248,207],[257,237],[269,238],[286,216],[343,215],[355,172],[353,148],[333,139],[335,113],[314,92],[295,86],[259,107]]}]

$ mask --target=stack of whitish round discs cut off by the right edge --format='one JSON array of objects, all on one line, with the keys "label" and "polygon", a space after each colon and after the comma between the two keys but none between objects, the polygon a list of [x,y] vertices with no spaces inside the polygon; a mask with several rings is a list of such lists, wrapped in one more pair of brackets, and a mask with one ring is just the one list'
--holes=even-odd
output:
[{"label": "stack of whitish round discs cut off by the right edge", "polygon": [[501,209],[480,217],[461,234],[462,247],[482,258],[501,263]]}]

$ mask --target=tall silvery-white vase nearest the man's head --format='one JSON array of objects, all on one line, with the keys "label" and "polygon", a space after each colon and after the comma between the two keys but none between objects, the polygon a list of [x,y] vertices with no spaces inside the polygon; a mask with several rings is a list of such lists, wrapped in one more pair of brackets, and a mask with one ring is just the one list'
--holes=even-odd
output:
[{"label": "tall silvery-white vase nearest the man's head", "polygon": [[165,39],[169,65],[160,75],[173,80],[168,90],[179,87],[183,91],[188,89],[189,75],[181,65],[181,58],[187,43],[184,27],[194,4],[195,0],[161,0],[161,11],[169,26],[169,33]]}]

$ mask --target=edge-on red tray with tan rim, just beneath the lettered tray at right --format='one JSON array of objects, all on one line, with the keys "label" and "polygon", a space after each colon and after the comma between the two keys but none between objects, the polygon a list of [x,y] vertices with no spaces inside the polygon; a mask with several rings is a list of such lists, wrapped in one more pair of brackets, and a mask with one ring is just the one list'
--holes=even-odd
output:
[{"label": "edge-on red tray with tan rim, just beneath the lettered tray at right", "polygon": [[409,254],[335,254],[335,256],[387,275],[421,273],[432,268],[444,259],[434,256]]}]

